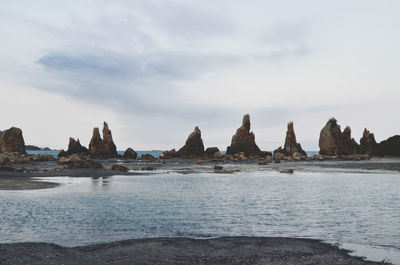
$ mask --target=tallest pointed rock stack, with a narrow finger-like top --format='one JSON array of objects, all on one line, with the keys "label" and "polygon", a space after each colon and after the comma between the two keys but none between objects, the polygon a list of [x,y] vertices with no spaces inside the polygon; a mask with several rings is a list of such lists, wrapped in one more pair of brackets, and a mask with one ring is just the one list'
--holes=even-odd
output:
[{"label": "tallest pointed rock stack, with a narrow finger-like top", "polygon": [[250,115],[243,117],[242,126],[237,129],[236,134],[232,137],[231,145],[227,148],[227,154],[236,154],[243,152],[246,156],[258,154],[260,152],[255,142],[255,135],[250,132]]}]

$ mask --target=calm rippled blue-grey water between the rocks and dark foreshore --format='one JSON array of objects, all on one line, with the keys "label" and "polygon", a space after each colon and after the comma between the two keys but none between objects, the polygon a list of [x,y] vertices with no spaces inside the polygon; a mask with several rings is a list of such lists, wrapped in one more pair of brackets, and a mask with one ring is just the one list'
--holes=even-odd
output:
[{"label": "calm rippled blue-grey water between the rocks and dark foreshore", "polygon": [[0,191],[0,240],[75,246],[143,237],[284,236],[400,264],[400,174],[158,172]]}]

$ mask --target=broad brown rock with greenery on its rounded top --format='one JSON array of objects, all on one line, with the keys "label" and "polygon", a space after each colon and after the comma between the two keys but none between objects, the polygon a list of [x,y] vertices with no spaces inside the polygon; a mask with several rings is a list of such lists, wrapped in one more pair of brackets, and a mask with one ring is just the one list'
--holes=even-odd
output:
[{"label": "broad brown rock with greenery on its rounded top", "polygon": [[360,153],[360,146],[351,138],[351,129],[347,126],[342,132],[335,118],[330,119],[322,128],[319,137],[321,155],[355,155]]}]

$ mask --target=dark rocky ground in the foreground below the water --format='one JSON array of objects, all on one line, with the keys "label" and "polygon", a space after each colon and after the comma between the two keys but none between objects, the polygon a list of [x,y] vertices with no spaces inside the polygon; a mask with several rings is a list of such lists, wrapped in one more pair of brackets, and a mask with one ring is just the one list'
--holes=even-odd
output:
[{"label": "dark rocky ground in the foreground below the water", "polygon": [[0,264],[384,264],[353,257],[318,240],[225,237],[134,239],[64,248],[47,243],[0,244]]}]

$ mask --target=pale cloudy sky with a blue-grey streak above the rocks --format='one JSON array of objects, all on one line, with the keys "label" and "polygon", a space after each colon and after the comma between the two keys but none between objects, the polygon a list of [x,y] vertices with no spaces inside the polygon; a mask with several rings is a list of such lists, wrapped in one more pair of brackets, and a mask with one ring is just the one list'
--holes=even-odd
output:
[{"label": "pale cloudy sky with a blue-grey streak above the rocks", "polygon": [[400,134],[400,1],[0,0],[0,130],[26,144],[226,150],[249,113],[262,150],[319,150],[335,117]]}]

